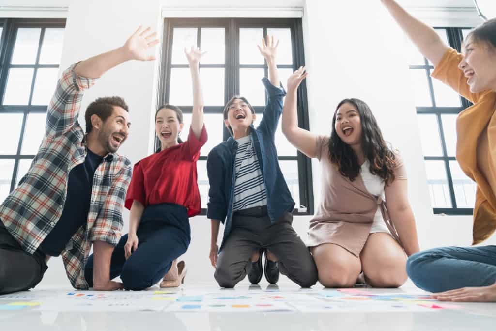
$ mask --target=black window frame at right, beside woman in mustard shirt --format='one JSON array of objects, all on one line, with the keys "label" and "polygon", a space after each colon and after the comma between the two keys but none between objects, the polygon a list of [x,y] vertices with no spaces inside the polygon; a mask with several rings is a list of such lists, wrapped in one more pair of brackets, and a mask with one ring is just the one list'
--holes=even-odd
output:
[{"label": "black window frame at right, beside woman in mustard shirt", "polygon": [[[446,27],[446,26],[435,26],[434,29],[445,29],[448,38],[449,46],[460,52],[461,44],[463,40],[462,30],[471,29],[470,27]],[[410,69],[424,69],[426,71],[429,93],[431,96],[432,107],[416,107],[417,114],[433,114],[437,118],[437,124],[439,129],[439,136],[441,139],[442,156],[425,156],[425,161],[443,161],[446,170],[446,178],[448,182],[449,195],[451,200],[451,208],[433,208],[434,214],[447,214],[447,215],[472,215],[474,212],[473,208],[458,208],[455,199],[455,191],[453,185],[453,179],[451,176],[451,169],[449,166],[449,161],[456,161],[455,156],[448,156],[446,148],[446,139],[444,137],[444,130],[441,121],[441,115],[443,114],[459,114],[466,108],[470,107],[472,103],[462,96],[460,98],[459,107],[439,107],[436,106],[433,79],[431,73],[434,70],[434,66],[429,63],[427,59],[424,59],[425,64],[422,66],[410,66]]]}]

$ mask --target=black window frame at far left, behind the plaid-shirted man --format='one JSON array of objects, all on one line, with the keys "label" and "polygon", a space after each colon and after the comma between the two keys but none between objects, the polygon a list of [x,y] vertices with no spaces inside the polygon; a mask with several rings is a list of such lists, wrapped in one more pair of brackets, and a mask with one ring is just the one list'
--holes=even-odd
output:
[{"label": "black window frame at far left, behind the plaid-shirted man", "polygon": [[[24,130],[26,128],[26,121],[29,114],[33,113],[46,113],[47,106],[32,106],[30,105],[33,98],[34,85],[36,80],[36,73],[39,68],[58,68],[60,65],[40,65],[38,64],[41,54],[41,45],[45,36],[46,28],[65,28],[65,18],[0,18],[0,26],[3,27],[0,41],[0,114],[23,114],[21,131],[19,141],[17,144],[17,151],[15,154],[0,154],[0,159],[9,159],[14,161],[14,168],[12,179],[10,183],[10,192],[12,192],[18,182],[17,172],[20,160],[33,159],[35,155],[21,154],[22,141]],[[38,52],[36,55],[35,65],[11,65],[10,60],[14,51],[15,39],[17,37],[18,28],[41,28],[40,40],[38,44]],[[34,68],[33,78],[31,82],[31,89],[29,92],[28,105],[3,105],[3,96],[5,93],[8,71],[10,68]]]}]

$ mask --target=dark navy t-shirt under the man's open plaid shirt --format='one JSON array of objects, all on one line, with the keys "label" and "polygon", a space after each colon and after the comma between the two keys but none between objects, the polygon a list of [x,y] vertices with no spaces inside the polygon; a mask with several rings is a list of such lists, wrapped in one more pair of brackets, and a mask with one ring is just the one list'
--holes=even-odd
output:
[{"label": "dark navy t-shirt under the man's open plaid shirt", "polygon": [[102,160],[103,156],[97,155],[88,149],[84,162],[70,171],[67,197],[65,198],[61,218],[39,247],[46,255],[59,256],[74,233],[81,226],[86,226],[93,175]]}]

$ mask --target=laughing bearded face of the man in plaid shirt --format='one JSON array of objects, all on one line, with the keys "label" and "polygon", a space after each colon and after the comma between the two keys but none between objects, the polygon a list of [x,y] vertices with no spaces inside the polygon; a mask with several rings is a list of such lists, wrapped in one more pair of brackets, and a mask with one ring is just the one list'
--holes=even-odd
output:
[{"label": "laughing bearded face of the man in plaid shirt", "polygon": [[112,115],[103,121],[101,129],[98,131],[99,144],[110,153],[117,152],[124,140],[127,139],[131,126],[129,113],[122,107],[113,107]]}]

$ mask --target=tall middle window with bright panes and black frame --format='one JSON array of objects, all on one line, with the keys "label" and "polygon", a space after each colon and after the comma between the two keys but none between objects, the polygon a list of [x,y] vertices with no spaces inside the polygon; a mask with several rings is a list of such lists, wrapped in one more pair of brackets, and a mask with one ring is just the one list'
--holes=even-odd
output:
[{"label": "tall middle window with bright panes and black frame", "polygon": [[[164,50],[161,69],[159,101],[180,106],[185,113],[185,129],[191,123],[191,78],[184,48],[200,47],[208,53],[200,63],[200,75],[205,100],[205,126],[208,141],[198,161],[198,186],[202,207],[208,201],[206,159],[208,152],[227,140],[222,111],[234,95],[245,96],[255,108],[256,121],[263,117],[266,95],[261,82],[267,76],[267,64],[256,44],[266,35],[279,39],[277,68],[284,86],[289,75],[304,65],[301,19],[165,19]],[[298,118],[302,128],[308,129],[306,85],[298,95]],[[183,136],[183,138],[186,138]],[[310,159],[297,152],[281,131],[276,132],[279,164],[296,208],[296,213],[313,213],[313,193]],[[158,140],[157,140],[158,143]],[[205,212],[205,210],[203,210]]]}]

